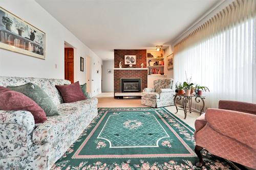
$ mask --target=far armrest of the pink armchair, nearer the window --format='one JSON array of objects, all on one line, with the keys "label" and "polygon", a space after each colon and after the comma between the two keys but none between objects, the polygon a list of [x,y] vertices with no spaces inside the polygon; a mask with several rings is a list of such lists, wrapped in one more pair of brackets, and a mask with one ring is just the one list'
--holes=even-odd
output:
[{"label": "far armrest of the pink armchair, nearer the window", "polygon": [[238,101],[219,101],[219,109],[256,114],[256,104]]}]

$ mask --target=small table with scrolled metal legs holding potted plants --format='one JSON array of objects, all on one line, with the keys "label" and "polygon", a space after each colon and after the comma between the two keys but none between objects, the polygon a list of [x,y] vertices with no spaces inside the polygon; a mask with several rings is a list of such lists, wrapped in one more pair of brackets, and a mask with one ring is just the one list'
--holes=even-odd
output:
[{"label": "small table with scrolled metal legs holding potted plants", "polygon": [[[192,106],[192,101],[193,101],[192,99],[193,98],[195,98],[196,103],[200,103],[202,101],[203,107],[199,112],[200,115],[202,114],[202,111],[203,111],[204,106],[205,106],[205,104],[204,104],[205,95],[190,95],[190,96],[187,96],[185,94],[176,93],[174,96],[175,96],[174,97],[174,105],[175,105],[176,110],[177,110],[176,113],[178,112],[178,110],[183,110],[184,114],[185,114],[184,119],[186,119],[186,117],[187,117],[187,111],[189,111],[189,113],[192,112],[191,106]],[[180,101],[182,98],[183,98],[182,107],[181,107],[182,109],[178,109],[176,101]],[[187,105],[188,105],[188,108],[187,108]],[[197,112],[197,111],[194,111],[194,112]]]}]

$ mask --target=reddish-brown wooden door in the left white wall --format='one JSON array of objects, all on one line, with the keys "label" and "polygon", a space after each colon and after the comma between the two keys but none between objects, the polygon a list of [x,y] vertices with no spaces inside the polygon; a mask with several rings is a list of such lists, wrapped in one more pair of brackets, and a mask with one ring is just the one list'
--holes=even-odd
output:
[{"label": "reddish-brown wooden door in the left white wall", "polygon": [[74,83],[74,49],[65,48],[65,79]]}]

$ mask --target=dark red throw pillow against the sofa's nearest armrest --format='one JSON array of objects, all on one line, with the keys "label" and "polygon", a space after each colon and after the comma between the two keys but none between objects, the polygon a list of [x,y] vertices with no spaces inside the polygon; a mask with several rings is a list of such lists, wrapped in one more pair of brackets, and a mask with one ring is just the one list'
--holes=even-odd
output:
[{"label": "dark red throw pillow against the sofa's nearest armrest", "polygon": [[46,113],[32,99],[23,93],[0,86],[0,110],[27,110],[32,113],[35,123],[44,123]]}]

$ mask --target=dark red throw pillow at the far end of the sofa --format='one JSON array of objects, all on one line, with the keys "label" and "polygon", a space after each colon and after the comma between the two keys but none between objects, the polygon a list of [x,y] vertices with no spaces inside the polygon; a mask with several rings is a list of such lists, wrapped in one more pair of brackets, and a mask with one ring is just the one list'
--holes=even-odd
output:
[{"label": "dark red throw pillow at the far end of the sofa", "polygon": [[82,93],[79,81],[69,85],[55,85],[61,93],[64,103],[72,103],[86,100],[86,96]]}]

